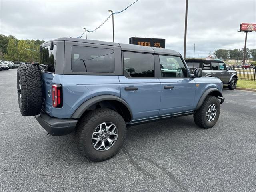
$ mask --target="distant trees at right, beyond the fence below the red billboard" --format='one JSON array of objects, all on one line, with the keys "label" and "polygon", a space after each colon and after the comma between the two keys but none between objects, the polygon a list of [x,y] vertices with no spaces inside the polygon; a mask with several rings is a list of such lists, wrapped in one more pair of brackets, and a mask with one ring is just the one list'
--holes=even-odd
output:
[{"label": "distant trees at right, beyond the fence below the red billboard", "polygon": [[[227,49],[218,49],[213,53],[216,58],[227,60],[227,59],[234,59],[234,60],[242,60],[244,57],[244,49],[234,49],[234,50],[227,50]],[[256,49],[248,49],[246,48],[246,57],[251,58],[256,61]]]}]

